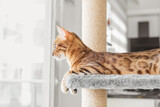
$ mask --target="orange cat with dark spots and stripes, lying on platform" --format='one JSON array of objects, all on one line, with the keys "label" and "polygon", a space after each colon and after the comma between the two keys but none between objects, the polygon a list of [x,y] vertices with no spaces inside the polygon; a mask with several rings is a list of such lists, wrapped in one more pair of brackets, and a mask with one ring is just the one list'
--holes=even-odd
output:
[{"label": "orange cat with dark spots and stripes, lying on platform", "polygon": [[[67,58],[70,70],[65,74],[61,89],[69,89],[65,79],[70,74],[159,74],[160,49],[133,53],[95,52],[87,47],[80,38],[62,27],[57,27],[59,35],[54,41],[53,56]],[[70,89],[72,94],[76,89]]]}]

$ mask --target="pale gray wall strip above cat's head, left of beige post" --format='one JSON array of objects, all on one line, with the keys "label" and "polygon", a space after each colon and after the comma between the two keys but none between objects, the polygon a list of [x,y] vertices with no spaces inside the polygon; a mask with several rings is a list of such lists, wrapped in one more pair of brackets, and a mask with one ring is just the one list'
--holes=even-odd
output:
[{"label": "pale gray wall strip above cat's head, left of beige post", "polygon": [[63,26],[81,37],[81,0],[64,0]]}]

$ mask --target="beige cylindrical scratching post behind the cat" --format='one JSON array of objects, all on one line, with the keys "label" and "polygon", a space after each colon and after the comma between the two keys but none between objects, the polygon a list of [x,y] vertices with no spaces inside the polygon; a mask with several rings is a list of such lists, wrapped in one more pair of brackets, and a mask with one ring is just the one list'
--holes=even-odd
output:
[{"label": "beige cylindrical scratching post behind the cat", "polygon": [[[82,0],[82,40],[91,49],[106,51],[106,0]],[[103,89],[82,89],[82,107],[106,107]]]}]

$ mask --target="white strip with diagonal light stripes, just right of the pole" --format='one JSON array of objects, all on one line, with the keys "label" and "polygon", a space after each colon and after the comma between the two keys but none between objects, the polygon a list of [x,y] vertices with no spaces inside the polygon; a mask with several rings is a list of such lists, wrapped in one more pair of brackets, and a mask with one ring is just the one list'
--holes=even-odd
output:
[{"label": "white strip with diagonal light stripes, just right of the pole", "polygon": [[[127,52],[127,14],[124,0],[109,0],[111,5],[111,43],[115,52]],[[112,51],[113,52],[113,51]]]}]

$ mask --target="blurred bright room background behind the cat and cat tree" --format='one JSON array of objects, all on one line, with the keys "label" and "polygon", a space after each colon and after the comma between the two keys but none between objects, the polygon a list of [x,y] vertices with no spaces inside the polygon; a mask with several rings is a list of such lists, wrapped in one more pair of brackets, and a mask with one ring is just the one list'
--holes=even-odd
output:
[{"label": "blurred bright room background behind the cat and cat tree", "polygon": [[[0,0],[0,107],[81,107],[63,94],[66,60],[51,56],[56,25],[81,38],[81,0]],[[159,48],[160,0],[108,0],[107,51]],[[108,107],[160,107],[159,90],[109,90]]]}]

